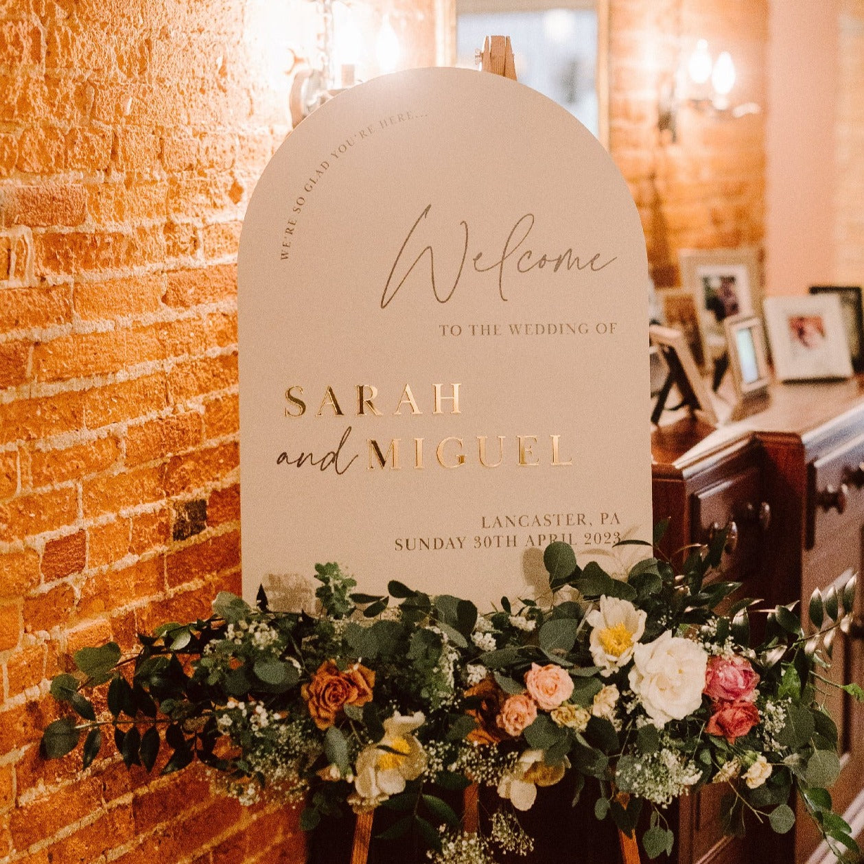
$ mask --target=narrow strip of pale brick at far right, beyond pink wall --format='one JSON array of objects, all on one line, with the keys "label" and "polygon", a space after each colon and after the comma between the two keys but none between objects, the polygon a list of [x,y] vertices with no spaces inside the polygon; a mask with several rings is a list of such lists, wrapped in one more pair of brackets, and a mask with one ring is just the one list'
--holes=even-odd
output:
[{"label": "narrow strip of pale brick at far right, beyond pink wall", "polygon": [[837,95],[837,284],[864,284],[864,3],[843,0]]}]

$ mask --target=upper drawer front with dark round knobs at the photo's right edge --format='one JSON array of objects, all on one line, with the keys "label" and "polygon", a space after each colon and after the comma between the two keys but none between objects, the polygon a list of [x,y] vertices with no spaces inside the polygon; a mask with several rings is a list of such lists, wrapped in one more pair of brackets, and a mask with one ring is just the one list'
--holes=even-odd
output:
[{"label": "upper drawer front with dark round knobs at the photo's right edge", "polygon": [[864,435],[810,463],[807,548],[835,537],[864,511]]}]

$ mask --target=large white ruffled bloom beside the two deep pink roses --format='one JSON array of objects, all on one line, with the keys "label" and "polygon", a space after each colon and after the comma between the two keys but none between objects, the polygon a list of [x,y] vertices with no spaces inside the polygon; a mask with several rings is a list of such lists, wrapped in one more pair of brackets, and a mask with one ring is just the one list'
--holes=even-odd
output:
[{"label": "large white ruffled bloom beside the two deep pink roses", "polygon": [[664,632],[647,645],[636,645],[630,686],[654,725],[683,720],[702,704],[708,653],[691,639]]}]

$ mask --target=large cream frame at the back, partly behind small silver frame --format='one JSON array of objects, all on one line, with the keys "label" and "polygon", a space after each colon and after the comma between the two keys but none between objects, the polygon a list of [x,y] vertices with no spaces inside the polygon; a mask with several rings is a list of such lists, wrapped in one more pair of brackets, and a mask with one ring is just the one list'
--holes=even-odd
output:
[{"label": "large cream frame at the back, partly behind small silver frame", "polygon": [[683,249],[678,252],[681,284],[693,296],[702,340],[701,364],[710,372],[726,351],[723,321],[738,314],[762,314],[759,250]]}]

